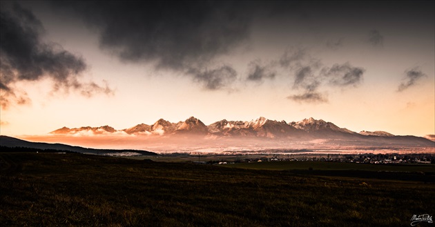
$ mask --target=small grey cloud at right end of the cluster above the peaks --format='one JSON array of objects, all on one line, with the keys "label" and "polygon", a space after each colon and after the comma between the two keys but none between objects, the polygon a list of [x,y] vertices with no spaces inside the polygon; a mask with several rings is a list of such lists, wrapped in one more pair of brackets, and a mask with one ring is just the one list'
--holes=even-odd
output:
[{"label": "small grey cloud at right end of the cluster above the peaks", "polygon": [[334,64],[323,68],[321,74],[334,86],[358,86],[363,79],[364,68],[351,66],[350,63]]}]

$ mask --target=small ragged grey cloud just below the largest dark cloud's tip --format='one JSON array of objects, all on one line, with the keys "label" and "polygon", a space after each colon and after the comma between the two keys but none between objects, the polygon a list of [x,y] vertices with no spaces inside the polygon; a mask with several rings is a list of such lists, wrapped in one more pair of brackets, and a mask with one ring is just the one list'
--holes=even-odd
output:
[{"label": "small ragged grey cloud just below the largest dark cloud's tip", "polygon": [[220,66],[213,70],[189,71],[198,83],[201,83],[206,90],[219,90],[229,88],[231,83],[237,78],[237,72],[231,66]]}]

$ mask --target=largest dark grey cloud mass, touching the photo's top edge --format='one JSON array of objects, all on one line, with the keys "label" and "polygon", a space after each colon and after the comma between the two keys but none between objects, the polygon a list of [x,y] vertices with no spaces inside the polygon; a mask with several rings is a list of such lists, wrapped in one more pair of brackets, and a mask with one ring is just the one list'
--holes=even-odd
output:
[{"label": "largest dark grey cloud mass, touching the photo's top edge", "polygon": [[[100,46],[122,61],[201,71],[249,37],[249,6],[238,1],[68,1],[100,32]],[[187,73],[191,75],[191,73]],[[195,75],[202,77],[202,75]]]}]

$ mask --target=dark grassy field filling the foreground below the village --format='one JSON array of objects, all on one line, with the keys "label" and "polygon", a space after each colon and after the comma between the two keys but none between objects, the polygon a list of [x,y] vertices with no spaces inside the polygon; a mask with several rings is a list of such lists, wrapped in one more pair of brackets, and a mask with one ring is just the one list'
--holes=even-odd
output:
[{"label": "dark grassy field filling the foreground below the village", "polygon": [[252,170],[35,152],[0,158],[1,226],[410,226],[413,215],[435,214],[430,169],[379,180],[364,170],[356,178],[322,175],[315,166]]}]

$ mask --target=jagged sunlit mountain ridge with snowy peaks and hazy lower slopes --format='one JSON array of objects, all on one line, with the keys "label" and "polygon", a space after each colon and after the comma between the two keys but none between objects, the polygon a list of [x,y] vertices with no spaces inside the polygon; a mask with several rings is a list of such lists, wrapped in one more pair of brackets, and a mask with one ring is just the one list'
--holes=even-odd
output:
[{"label": "jagged sunlit mountain ridge with snowy peaks and hazy lower slopes", "polygon": [[[275,146],[293,146],[291,144],[311,143],[316,147],[431,147],[435,148],[434,141],[424,137],[397,136],[384,131],[353,132],[347,128],[340,128],[332,122],[322,119],[303,119],[302,121],[275,121],[265,117],[258,117],[251,121],[228,121],[223,119],[206,126],[200,119],[189,117],[185,121],[172,123],[164,119],[155,121],[154,124],[137,124],[131,128],[115,130],[110,126],[59,128],[50,132],[52,135],[131,135],[137,139],[148,141],[159,140],[160,143],[177,141],[193,144],[209,143],[210,139],[223,141],[230,139],[234,145],[251,144],[263,146],[264,143]],[[125,138],[124,138],[125,139]],[[175,140],[174,140],[175,139]],[[117,140],[120,141],[120,140]],[[249,142],[248,142],[249,141]],[[328,144],[328,145],[326,145]]]}]

